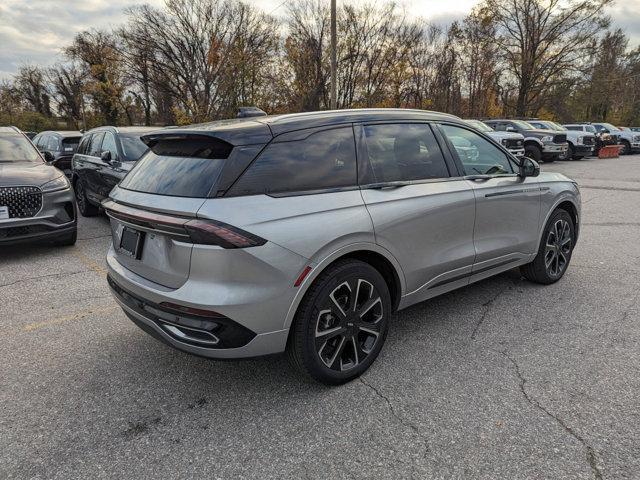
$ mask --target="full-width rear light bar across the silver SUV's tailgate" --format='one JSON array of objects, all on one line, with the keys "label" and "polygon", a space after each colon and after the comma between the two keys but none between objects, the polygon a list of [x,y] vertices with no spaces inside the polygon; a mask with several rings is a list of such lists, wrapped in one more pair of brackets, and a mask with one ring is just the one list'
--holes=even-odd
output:
[{"label": "full-width rear light bar across the silver SUV's tailgate", "polygon": [[262,237],[217,220],[174,217],[127,207],[112,200],[103,202],[102,207],[107,215],[116,220],[188,237],[191,242],[199,245],[217,245],[231,249],[258,247],[267,243]]}]

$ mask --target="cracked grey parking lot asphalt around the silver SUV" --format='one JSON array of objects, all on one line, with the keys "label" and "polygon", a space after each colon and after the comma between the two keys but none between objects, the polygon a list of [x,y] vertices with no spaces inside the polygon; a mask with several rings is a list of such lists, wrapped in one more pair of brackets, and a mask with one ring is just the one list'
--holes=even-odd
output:
[{"label": "cracked grey parking lot asphalt around the silver SUV", "polygon": [[0,247],[0,478],[640,478],[640,155],[576,179],[572,264],[399,312],[357,381],[208,361],[112,300],[105,217],[75,247]]}]

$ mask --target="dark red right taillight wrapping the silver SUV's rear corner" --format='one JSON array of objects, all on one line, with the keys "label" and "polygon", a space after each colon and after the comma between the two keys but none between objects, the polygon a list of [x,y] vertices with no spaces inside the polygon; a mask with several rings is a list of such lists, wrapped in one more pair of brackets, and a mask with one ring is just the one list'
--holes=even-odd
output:
[{"label": "dark red right taillight wrapping the silver SUV's rear corner", "polygon": [[264,245],[264,238],[216,220],[189,220],[184,224],[193,243],[222,248],[248,248]]}]

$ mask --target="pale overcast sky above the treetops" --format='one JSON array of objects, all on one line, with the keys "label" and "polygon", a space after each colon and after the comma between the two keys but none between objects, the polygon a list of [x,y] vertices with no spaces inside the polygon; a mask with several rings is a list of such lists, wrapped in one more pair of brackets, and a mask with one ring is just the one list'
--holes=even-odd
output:
[{"label": "pale overcast sky above the treetops", "polygon": [[[161,6],[164,0],[147,0]],[[282,0],[246,0],[265,12],[282,15]],[[327,0],[328,2],[329,0]],[[338,4],[363,0],[338,0]],[[25,63],[51,65],[60,61],[60,49],[73,36],[89,28],[108,28],[121,23],[126,7],[143,0],[1,0],[0,78],[15,73]],[[409,15],[441,25],[462,19],[477,0],[401,0]],[[609,13],[614,26],[622,28],[635,45],[640,44],[640,0],[618,0]]]}]

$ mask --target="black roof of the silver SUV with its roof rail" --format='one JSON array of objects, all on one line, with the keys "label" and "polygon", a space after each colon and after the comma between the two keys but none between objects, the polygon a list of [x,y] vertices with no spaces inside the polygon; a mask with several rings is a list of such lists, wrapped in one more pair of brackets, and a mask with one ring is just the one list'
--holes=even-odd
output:
[{"label": "black roof of the silver SUV with its roof rail", "polygon": [[179,136],[197,132],[215,136],[232,145],[248,145],[267,143],[274,136],[294,130],[390,120],[449,120],[463,123],[455,115],[428,110],[403,108],[325,110],[264,117],[234,118],[185,127],[171,127],[164,130],[156,130],[155,134],[152,135],[145,135],[143,140],[149,142],[158,137]]}]

